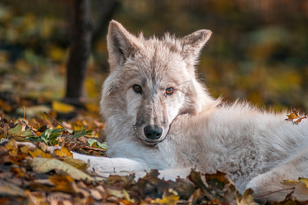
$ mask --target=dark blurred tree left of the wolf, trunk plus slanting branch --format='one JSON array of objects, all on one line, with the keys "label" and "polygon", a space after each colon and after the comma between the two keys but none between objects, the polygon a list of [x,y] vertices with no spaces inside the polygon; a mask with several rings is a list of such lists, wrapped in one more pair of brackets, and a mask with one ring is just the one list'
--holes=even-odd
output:
[{"label": "dark blurred tree left of the wolf, trunk plus slanting branch", "polygon": [[[86,96],[84,81],[91,47],[99,37],[103,36],[107,25],[112,18],[114,10],[119,5],[118,1],[109,0],[104,3],[104,8],[94,28],[91,18],[90,0],[75,0],[72,41],[67,61],[66,95],[65,102],[82,106],[82,98]],[[92,31],[94,29],[93,38]]]}]

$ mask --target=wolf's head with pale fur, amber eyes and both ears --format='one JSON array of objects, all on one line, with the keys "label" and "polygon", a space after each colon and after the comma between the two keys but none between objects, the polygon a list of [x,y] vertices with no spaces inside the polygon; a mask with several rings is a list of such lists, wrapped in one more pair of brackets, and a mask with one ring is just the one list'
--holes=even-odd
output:
[{"label": "wolf's head with pale fur, amber eyes and both ears", "polygon": [[131,138],[153,146],[164,140],[182,114],[217,105],[198,83],[194,65],[211,31],[177,39],[134,36],[112,20],[107,35],[110,76],[103,85],[101,110],[107,142]]}]

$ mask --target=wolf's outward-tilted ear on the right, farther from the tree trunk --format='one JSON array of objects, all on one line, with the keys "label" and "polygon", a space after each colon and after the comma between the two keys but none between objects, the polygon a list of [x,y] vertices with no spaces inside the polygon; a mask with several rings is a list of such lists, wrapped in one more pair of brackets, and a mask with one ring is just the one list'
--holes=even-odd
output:
[{"label": "wolf's outward-tilted ear on the right, farther from the tree trunk", "polygon": [[196,61],[209,37],[211,37],[211,31],[203,29],[181,38],[184,57]]}]

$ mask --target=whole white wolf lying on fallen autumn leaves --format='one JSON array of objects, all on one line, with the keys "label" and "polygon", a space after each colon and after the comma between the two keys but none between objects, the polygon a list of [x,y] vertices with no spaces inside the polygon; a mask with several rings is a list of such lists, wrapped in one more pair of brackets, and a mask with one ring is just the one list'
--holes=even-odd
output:
[{"label": "whole white wolf lying on fallen autumn leaves", "polygon": [[[134,36],[112,20],[107,35],[110,76],[103,84],[107,155],[74,154],[102,172],[160,169],[185,176],[194,167],[226,172],[239,191],[257,195],[290,187],[282,180],[308,177],[308,122],[285,121],[247,103],[226,105],[209,96],[195,64],[211,31],[183,38]],[[303,186],[304,187],[304,186]],[[305,188],[295,196],[307,200]],[[290,190],[265,195],[282,200]],[[307,191],[306,191],[307,193]]]}]

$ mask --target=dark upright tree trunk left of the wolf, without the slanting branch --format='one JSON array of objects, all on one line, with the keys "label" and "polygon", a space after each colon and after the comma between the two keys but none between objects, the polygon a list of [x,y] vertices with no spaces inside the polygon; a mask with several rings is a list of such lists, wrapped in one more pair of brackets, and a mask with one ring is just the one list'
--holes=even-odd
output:
[{"label": "dark upright tree trunk left of the wolf, without the slanting branch", "polygon": [[66,64],[66,96],[64,101],[73,105],[82,105],[82,98],[86,97],[84,81],[91,51],[93,27],[90,0],[75,0],[73,15],[72,41]]}]

